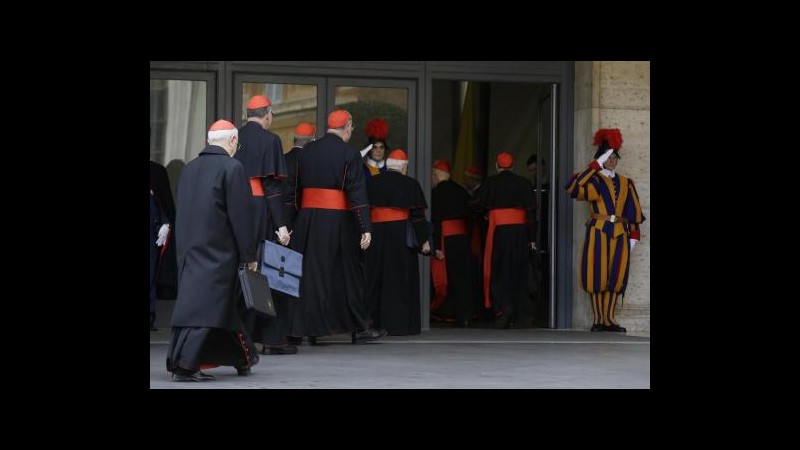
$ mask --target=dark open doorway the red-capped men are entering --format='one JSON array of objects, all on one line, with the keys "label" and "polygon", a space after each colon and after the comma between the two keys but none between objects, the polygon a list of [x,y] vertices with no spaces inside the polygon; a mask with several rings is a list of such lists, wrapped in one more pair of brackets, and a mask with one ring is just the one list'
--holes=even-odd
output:
[{"label": "dark open doorway the red-capped men are entering", "polygon": [[[471,190],[474,178],[470,179],[467,170],[477,167],[483,178],[494,175],[496,155],[508,152],[514,156],[513,172],[529,179],[536,193],[537,251],[531,254],[528,279],[519,280],[528,287],[528,299],[516,324],[520,328],[555,326],[555,295],[550,288],[555,236],[549,201],[552,162],[556,160],[555,92],[551,83],[432,83],[431,159],[449,161],[451,179]],[[477,271],[480,276],[479,268]],[[482,302],[476,312],[481,309]],[[479,317],[476,326],[481,324],[490,326],[491,317]]]}]

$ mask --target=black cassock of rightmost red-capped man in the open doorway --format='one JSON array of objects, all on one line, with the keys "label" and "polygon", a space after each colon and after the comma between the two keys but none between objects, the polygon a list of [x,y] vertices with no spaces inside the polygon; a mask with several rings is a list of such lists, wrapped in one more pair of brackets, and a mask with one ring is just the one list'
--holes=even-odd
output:
[{"label": "black cassock of rightmost red-capped man in the open doorway", "polygon": [[[525,210],[526,224],[499,225],[494,230],[491,254],[491,306],[495,313],[521,313],[528,298],[529,243],[535,236],[536,198],[530,181],[510,171],[488,177],[476,192],[478,207],[486,214],[492,209]],[[487,247],[488,236],[487,231]]]}]

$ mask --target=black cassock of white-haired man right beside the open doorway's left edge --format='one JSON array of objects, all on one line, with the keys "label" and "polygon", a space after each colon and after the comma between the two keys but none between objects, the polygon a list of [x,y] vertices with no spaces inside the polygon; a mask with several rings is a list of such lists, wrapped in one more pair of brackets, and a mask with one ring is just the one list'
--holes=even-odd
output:
[{"label": "black cassock of white-haired man right beside the open doorway's left edge", "polygon": [[367,186],[370,206],[402,208],[408,220],[373,221],[372,244],[366,251],[367,306],[375,328],[390,335],[419,334],[419,258],[406,246],[408,221],[418,242],[428,240],[425,209],[428,203],[419,182],[395,170],[372,177]]}]

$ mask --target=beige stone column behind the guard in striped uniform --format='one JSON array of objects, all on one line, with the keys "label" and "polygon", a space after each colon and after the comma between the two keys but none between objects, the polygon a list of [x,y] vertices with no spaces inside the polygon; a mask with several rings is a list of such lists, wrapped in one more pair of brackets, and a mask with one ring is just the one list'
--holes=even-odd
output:
[{"label": "beige stone column behind the guard in striped uniform", "polygon": [[[647,220],[642,239],[631,255],[628,288],[616,318],[628,331],[650,331],[650,62],[576,61],[573,171],[594,156],[594,132],[619,128],[622,149],[617,171],[636,183]],[[563,186],[562,186],[563,187]],[[592,324],[589,294],[578,284],[578,264],[589,218],[585,202],[573,202],[573,316],[572,326],[588,330]]]}]

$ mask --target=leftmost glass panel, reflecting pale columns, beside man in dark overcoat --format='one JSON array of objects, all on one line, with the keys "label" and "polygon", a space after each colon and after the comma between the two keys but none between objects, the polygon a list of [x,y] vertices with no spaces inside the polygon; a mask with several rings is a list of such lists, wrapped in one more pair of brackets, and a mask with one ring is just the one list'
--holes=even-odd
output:
[{"label": "leftmost glass panel, reflecting pale columns, beside man in dark overcoat", "polygon": [[165,166],[172,194],[183,166],[206,146],[206,82],[150,80],[150,159]]}]

